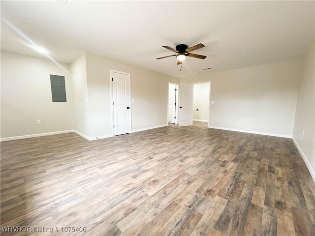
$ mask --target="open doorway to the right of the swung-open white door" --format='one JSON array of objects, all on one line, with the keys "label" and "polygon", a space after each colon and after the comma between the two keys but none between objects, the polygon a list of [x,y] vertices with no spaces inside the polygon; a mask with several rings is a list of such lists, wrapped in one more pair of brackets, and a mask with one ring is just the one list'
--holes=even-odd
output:
[{"label": "open doorway to the right of the swung-open white door", "polygon": [[211,81],[193,83],[192,120],[210,124]]}]

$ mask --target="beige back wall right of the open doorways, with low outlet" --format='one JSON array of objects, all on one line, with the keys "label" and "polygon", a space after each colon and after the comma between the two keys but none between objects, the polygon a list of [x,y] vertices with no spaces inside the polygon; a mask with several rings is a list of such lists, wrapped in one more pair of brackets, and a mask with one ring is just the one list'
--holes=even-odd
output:
[{"label": "beige back wall right of the open doorways, with low outlet", "polygon": [[181,82],[211,81],[211,127],[291,137],[300,74],[301,59],[294,59],[199,73]]}]

